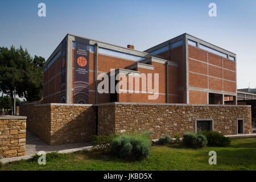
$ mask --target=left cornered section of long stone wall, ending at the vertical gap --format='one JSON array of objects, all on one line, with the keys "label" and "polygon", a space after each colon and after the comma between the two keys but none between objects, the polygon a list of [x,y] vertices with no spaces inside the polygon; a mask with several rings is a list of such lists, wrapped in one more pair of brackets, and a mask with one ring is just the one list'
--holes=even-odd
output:
[{"label": "left cornered section of long stone wall, ending at the vertical gap", "polygon": [[96,133],[96,110],[81,104],[21,104],[27,128],[48,144],[89,141]]}]

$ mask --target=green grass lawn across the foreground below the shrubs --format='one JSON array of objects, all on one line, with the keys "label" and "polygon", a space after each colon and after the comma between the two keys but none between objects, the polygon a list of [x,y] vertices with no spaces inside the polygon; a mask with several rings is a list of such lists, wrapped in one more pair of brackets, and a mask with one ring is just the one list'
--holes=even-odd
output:
[{"label": "green grass lawn across the foreground below the shrubs", "polygon": [[[217,165],[209,165],[209,151],[217,152]],[[152,146],[143,160],[125,160],[105,151],[61,154],[39,165],[36,160],[20,160],[0,170],[256,170],[256,138],[232,139],[229,147],[191,149],[182,144]]]}]

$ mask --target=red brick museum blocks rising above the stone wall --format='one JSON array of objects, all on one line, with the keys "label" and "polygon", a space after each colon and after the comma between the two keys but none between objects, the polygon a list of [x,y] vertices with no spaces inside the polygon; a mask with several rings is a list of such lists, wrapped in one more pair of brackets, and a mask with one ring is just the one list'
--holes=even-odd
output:
[{"label": "red brick museum blocks rising above the stone wall", "polygon": [[[78,68],[80,65],[85,69]],[[115,69],[115,75],[122,73],[134,78],[152,73],[152,80],[158,73],[158,98],[148,100],[152,92],[148,88],[141,91],[143,78],[140,90],[131,88],[135,93],[129,93],[128,85],[128,93],[98,93],[100,80],[96,81],[96,76],[109,74],[110,69]],[[86,77],[84,82],[80,81],[81,75]],[[225,104],[224,98],[232,97],[236,105],[236,80],[236,54],[189,34],[143,52],[130,45],[120,47],[67,34],[44,65],[43,103]]]}]

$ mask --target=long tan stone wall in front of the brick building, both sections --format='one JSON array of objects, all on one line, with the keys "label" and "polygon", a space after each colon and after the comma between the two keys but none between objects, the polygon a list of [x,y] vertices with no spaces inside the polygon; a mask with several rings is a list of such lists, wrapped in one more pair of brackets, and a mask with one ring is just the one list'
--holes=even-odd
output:
[{"label": "long tan stone wall in front of the brick building, both sections", "polygon": [[[96,122],[98,107],[98,122]],[[143,104],[111,102],[98,105],[26,104],[20,115],[27,116],[27,128],[48,144],[89,141],[96,134],[150,131],[164,135],[195,133],[196,119],[213,119],[214,131],[237,134],[237,119],[244,119],[244,133],[251,133],[251,107],[231,105]]]}]

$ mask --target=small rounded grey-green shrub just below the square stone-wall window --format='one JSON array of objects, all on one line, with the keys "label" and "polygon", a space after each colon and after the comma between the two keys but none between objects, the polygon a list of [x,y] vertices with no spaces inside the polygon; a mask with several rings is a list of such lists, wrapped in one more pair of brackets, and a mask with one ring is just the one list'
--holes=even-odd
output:
[{"label": "small rounded grey-green shrub just below the square stone-wall window", "polygon": [[202,148],[207,145],[207,138],[201,134],[185,133],[183,134],[183,143],[187,147]]}]

